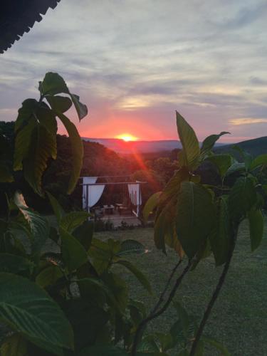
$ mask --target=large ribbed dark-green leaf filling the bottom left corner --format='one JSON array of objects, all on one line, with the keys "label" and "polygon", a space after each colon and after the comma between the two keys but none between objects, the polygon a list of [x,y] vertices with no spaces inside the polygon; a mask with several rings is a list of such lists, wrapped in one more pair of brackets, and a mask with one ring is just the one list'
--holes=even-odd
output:
[{"label": "large ribbed dark-green leaf filling the bottom left corner", "polygon": [[0,273],[0,320],[55,355],[73,348],[73,332],[62,310],[26,278]]}]

